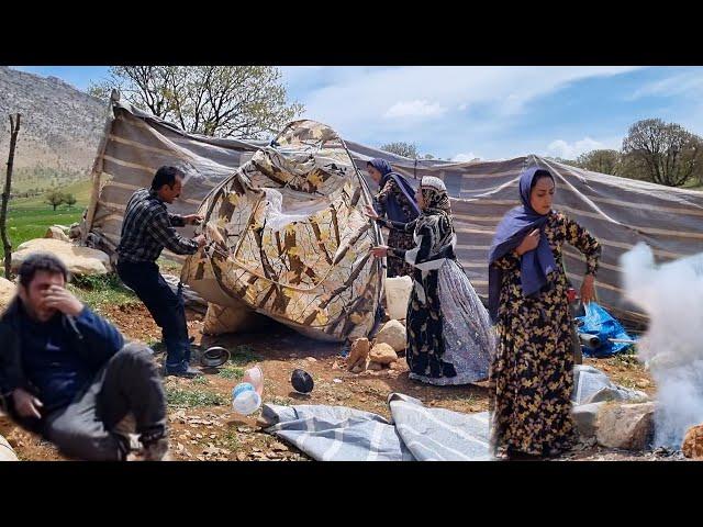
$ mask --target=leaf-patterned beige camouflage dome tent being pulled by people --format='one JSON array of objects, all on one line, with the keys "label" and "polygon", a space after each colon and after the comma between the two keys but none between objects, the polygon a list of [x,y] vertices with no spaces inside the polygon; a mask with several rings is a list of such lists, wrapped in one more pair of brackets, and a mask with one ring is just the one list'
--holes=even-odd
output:
[{"label": "leaf-patterned beige camouflage dome tent being pulled by people", "polygon": [[247,306],[315,338],[368,335],[382,291],[371,194],[337,134],[291,123],[203,201],[204,249],[181,279],[204,299]]}]

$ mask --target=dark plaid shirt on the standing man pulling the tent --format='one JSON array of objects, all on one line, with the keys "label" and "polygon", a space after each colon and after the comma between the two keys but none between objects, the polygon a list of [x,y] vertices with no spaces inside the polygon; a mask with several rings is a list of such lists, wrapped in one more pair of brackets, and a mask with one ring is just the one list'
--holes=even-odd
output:
[{"label": "dark plaid shirt on the standing man pulling the tent", "polygon": [[156,261],[167,248],[177,255],[192,255],[198,244],[176,232],[182,227],[182,216],[169,214],[166,203],[149,189],[137,190],[127,203],[118,254],[120,260],[143,262]]}]

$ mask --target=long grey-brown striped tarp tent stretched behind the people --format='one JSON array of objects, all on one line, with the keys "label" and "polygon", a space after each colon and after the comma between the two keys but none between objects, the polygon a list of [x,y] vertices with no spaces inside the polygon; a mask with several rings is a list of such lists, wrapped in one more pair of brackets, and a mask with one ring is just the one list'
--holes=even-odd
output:
[{"label": "long grey-brown striped tarp tent stretched behind the people", "polygon": [[[147,187],[164,164],[185,167],[188,181],[177,213],[192,213],[202,200],[267,143],[190,135],[131,104],[111,102],[93,166],[93,197],[86,216],[87,242],[111,251],[119,242],[122,215],[134,190]],[[691,256],[703,243],[703,193],[590,172],[538,156],[509,160],[447,162],[413,160],[346,142],[360,169],[372,157],[383,157],[411,181],[436,176],[451,195],[458,235],[457,255],[477,292],[488,293],[487,257],[495,226],[518,203],[520,172],[532,164],[549,168],[557,178],[555,208],[590,229],[603,244],[596,288],[602,305],[616,316],[645,321],[637,307],[625,304],[620,257],[638,242],[647,243],[658,261]],[[565,250],[567,274],[579,288],[584,264],[571,247]]]}]

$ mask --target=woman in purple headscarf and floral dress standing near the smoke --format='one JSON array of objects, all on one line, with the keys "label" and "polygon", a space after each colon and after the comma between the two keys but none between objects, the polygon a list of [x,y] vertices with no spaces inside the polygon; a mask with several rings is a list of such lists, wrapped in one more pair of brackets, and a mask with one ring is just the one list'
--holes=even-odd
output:
[{"label": "woman in purple headscarf and floral dress standing near the smoke", "polygon": [[522,205],[498,226],[489,255],[489,312],[498,349],[491,365],[492,442],[510,458],[557,456],[574,439],[573,324],[561,246],[585,256],[584,303],[594,298],[601,246],[551,209],[555,179],[533,167],[520,178]]}]

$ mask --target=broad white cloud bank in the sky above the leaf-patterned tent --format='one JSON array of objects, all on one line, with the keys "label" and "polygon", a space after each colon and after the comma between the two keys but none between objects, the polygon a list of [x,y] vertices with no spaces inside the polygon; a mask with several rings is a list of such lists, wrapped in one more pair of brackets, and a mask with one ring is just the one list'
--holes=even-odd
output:
[{"label": "broad white cloud bank in the sky above the leaf-patterned tent", "polygon": [[[423,152],[450,156],[466,145],[484,155],[513,155],[543,148],[550,137],[495,144],[540,99],[594,77],[631,67],[322,67],[290,71],[291,89],[305,105],[304,117],[323,122],[343,137],[367,145],[415,143]],[[466,109],[477,112],[468,121]],[[464,109],[464,110],[462,110]],[[537,135],[539,134],[539,135]],[[532,142],[532,143],[529,143]],[[529,143],[529,145],[528,145]],[[506,154],[507,153],[507,154]]]}]

